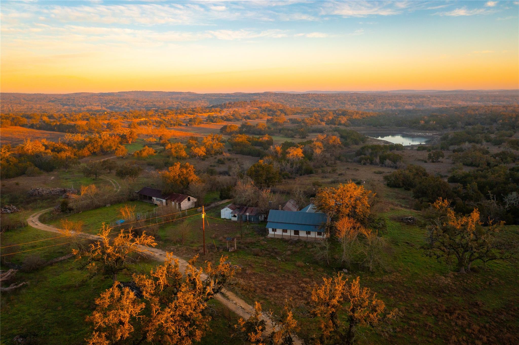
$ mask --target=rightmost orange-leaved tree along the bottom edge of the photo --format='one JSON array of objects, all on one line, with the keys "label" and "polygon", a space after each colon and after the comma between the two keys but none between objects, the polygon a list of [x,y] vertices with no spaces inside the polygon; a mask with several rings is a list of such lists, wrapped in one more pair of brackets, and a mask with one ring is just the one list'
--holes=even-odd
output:
[{"label": "rightmost orange-leaved tree along the bottom edge of the photo", "polygon": [[385,326],[398,315],[397,309],[386,312],[386,305],[375,293],[367,287],[361,288],[359,277],[348,284],[340,272],[332,278],[323,278],[310,298],[311,312],[320,318],[321,334],[315,341],[321,345],[351,345],[359,326],[387,330]]}]

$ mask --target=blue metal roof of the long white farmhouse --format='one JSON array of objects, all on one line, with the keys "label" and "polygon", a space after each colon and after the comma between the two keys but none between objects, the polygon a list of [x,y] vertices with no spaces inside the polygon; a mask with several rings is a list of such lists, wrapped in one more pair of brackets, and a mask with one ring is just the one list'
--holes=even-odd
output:
[{"label": "blue metal roof of the long white farmhouse", "polygon": [[324,213],[306,213],[293,211],[270,210],[267,228],[319,231],[326,223]]}]

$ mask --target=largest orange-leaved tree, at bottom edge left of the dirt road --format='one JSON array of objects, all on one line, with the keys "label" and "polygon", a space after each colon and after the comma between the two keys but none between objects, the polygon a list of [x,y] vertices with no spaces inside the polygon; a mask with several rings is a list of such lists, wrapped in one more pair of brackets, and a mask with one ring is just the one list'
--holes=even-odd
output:
[{"label": "largest orange-leaved tree, at bottom edge left of the dirt road", "polygon": [[190,345],[199,341],[208,330],[210,315],[207,302],[220,292],[236,267],[221,257],[217,266],[206,264],[205,272],[195,267],[195,256],[184,274],[178,259],[167,253],[163,265],[149,275],[133,275],[142,302],[127,287],[121,293],[114,284],[96,300],[97,307],[88,321],[93,333],[87,342],[92,345],[141,343],[146,340],[160,344]]}]

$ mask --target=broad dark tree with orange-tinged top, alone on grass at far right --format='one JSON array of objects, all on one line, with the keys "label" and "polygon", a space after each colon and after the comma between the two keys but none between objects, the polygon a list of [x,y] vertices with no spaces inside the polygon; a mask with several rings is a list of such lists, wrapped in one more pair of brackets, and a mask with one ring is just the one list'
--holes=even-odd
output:
[{"label": "broad dark tree with orange-tinged top, alone on grass at far right", "polygon": [[513,246],[499,242],[496,234],[503,223],[482,226],[480,212],[474,209],[468,216],[457,214],[449,202],[439,198],[429,210],[429,238],[422,247],[429,256],[435,256],[447,264],[454,260],[460,273],[470,271],[476,260],[507,260]]}]

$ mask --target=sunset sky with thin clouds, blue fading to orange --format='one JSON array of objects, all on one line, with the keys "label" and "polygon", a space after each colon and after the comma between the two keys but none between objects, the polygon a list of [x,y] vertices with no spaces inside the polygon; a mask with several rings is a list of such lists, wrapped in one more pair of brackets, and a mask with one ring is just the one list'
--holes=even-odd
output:
[{"label": "sunset sky with thin clouds, blue fading to orange", "polygon": [[519,88],[518,1],[0,3],[0,91]]}]

